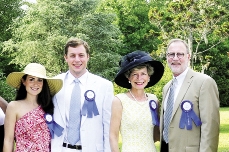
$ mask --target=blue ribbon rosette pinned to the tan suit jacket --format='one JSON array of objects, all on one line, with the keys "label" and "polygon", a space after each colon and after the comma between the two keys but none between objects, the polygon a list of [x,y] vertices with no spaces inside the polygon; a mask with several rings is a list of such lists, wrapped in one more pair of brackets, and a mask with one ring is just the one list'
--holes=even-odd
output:
[{"label": "blue ribbon rosette pinned to the tan suit jacket", "polygon": [[184,129],[185,126],[187,130],[192,130],[192,120],[196,126],[200,126],[202,122],[200,121],[199,117],[193,111],[193,104],[189,100],[184,100],[181,103],[182,114],[180,118],[179,127]]}]

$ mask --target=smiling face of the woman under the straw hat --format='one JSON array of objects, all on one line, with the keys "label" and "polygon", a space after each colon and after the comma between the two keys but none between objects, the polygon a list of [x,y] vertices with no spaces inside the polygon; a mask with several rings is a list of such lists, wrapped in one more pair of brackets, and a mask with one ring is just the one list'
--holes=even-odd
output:
[{"label": "smiling face of the woman under the straw hat", "polygon": [[38,95],[42,91],[43,79],[35,76],[27,75],[26,79],[22,79],[26,91],[32,95]]}]

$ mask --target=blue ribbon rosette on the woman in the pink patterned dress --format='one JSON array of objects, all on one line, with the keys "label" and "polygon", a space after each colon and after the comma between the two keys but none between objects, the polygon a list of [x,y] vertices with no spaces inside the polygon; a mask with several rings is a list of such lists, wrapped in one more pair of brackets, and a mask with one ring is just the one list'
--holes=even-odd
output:
[{"label": "blue ribbon rosette on the woman in the pink patterned dress", "polygon": [[51,133],[52,139],[54,138],[54,134],[56,134],[58,137],[60,137],[62,135],[64,128],[61,127],[59,124],[57,124],[53,120],[52,115],[45,114],[44,117],[45,117],[46,124],[48,125],[49,131]]}]

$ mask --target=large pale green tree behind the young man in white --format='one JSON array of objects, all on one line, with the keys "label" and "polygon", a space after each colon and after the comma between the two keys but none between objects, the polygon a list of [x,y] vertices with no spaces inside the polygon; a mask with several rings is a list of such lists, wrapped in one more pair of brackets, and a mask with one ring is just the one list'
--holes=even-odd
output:
[{"label": "large pale green tree behind the young man in white", "polygon": [[[115,15],[97,13],[98,0],[43,0],[30,4],[25,16],[12,25],[12,38],[4,42],[4,54],[12,57],[10,64],[24,67],[30,62],[43,64],[50,76],[67,70],[64,61],[64,44],[70,37],[84,38],[88,41],[93,56],[101,52],[116,54],[122,46],[121,34],[113,24]],[[26,30],[25,30],[26,29]],[[98,54],[97,54],[98,53]],[[100,55],[99,55],[100,54]],[[93,60],[96,65],[97,60]],[[97,71],[92,64],[91,71],[103,71],[100,75],[109,79],[114,73],[114,61],[107,62]],[[109,64],[110,63],[110,64]],[[93,69],[94,68],[94,69]]]}]

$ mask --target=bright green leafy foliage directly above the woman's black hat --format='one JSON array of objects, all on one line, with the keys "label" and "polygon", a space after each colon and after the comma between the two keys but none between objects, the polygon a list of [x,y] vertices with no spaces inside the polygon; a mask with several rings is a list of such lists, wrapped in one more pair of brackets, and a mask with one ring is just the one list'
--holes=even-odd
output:
[{"label": "bright green leafy foliage directly above the woman's black hat", "polygon": [[151,3],[146,0],[103,0],[100,11],[112,12],[118,16],[116,24],[122,32],[125,44],[119,50],[125,55],[135,50],[151,52],[157,48],[157,37],[149,34],[155,27],[149,23],[147,13]]}]

